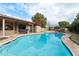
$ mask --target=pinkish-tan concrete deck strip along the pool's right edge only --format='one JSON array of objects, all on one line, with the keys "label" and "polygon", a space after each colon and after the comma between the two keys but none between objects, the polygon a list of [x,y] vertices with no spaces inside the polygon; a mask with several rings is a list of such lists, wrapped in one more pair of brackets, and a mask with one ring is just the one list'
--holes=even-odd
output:
[{"label": "pinkish-tan concrete deck strip along the pool's right edge only", "polygon": [[75,44],[71,39],[66,36],[62,37],[62,41],[69,47],[74,56],[79,56],[79,45]]}]

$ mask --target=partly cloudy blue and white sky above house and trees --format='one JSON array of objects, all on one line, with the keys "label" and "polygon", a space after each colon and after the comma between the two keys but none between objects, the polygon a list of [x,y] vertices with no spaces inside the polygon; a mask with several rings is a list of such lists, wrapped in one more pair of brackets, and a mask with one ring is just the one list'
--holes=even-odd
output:
[{"label": "partly cloudy blue and white sky above house and trees", "polygon": [[72,22],[79,13],[78,3],[0,3],[0,14],[16,16],[32,21],[35,13],[47,17],[48,24],[57,25],[59,21]]}]

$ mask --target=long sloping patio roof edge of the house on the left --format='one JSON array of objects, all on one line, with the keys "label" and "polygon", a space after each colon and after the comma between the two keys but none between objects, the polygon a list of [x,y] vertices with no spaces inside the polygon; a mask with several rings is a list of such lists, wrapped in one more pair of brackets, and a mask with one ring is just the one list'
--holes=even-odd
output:
[{"label": "long sloping patio roof edge of the house on the left", "polygon": [[0,14],[0,18],[7,18],[7,20],[9,20],[9,21],[15,21],[15,22],[19,22],[19,23],[26,23],[28,25],[32,25],[32,24],[35,25],[34,22],[26,21],[26,20],[21,19],[21,18],[16,17],[16,16]]}]

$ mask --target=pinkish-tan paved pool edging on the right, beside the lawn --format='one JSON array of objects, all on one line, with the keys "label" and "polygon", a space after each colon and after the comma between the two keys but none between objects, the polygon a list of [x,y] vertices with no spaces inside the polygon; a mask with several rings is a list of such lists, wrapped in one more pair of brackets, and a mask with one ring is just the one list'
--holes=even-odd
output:
[{"label": "pinkish-tan paved pool edging on the right, beside the lawn", "polygon": [[[68,34],[68,35],[65,34],[64,36],[62,36],[62,41],[70,49],[70,51],[72,52],[73,56],[79,56],[79,53],[78,53],[79,51],[76,50],[78,45],[75,46],[76,44],[70,39],[71,35],[70,34]],[[71,44],[69,44],[69,43],[71,43]]]}]

